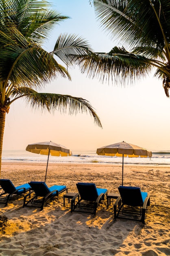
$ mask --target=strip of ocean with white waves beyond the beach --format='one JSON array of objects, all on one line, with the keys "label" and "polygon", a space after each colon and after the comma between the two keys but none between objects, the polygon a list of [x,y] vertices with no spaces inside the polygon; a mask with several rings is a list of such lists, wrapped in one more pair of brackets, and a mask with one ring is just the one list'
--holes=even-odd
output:
[{"label": "strip of ocean with white waves beyond the beach", "polygon": [[[169,165],[170,151],[152,151],[153,156],[148,157],[124,157],[124,164]],[[26,150],[3,150],[2,162],[31,162],[46,163],[47,155],[30,153]],[[75,151],[72,156],[49,156],[51,163],[84,163],[84,164],[122,164],[122,157],[109,157],[97,155],[96,151]]]}]

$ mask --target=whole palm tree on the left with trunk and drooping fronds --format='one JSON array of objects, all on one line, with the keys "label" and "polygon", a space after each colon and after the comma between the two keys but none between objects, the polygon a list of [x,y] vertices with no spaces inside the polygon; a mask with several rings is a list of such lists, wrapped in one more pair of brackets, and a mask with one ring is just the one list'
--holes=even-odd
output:
[{"label": "whole palm tree on the left with trunk and drooping fronds", "polygon": [[0,170],[6,114],[10,105],[24,97],[35,109],[89,112],[101,127],[90,103],[70,95],[41,93],[39,90],[57,76],[70,79],[67,69],[54,58],[66,63],[65,54],[87,54],[88,43],[76,35],[61,35],[53,52],[42,45],[61,21],[67,19],[50,9],[46,1],[0,0]]}]

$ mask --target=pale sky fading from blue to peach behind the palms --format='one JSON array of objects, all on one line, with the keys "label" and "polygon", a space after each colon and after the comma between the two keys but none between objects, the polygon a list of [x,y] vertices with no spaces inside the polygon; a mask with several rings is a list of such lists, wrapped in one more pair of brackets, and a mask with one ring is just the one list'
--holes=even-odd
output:
[{"label": "pale sky fading from blue to peach behind the palms", "polygon": [[[89,0],[50,0],[55,9],[71,17],[56,27],[44,49],[52,51],[61,33],[86,38],[95,52],[109,52],[118,43],[102,31]],[[6,117],[3,150],[25,150],[31,143],[53,141],[72,152],[96,150],[102,146],[126,141],[148,150],[170,150],[170,99],[162,82],[153,74],[124,88],[100,83],[81,74],[78,68],[68,70],[72,81],[58,78],[46,85],[44,92],[69,94],[88,100],[100,117],[102,129],[89,114],[53,114],[32,110],[23,99],[15,101]]]}]

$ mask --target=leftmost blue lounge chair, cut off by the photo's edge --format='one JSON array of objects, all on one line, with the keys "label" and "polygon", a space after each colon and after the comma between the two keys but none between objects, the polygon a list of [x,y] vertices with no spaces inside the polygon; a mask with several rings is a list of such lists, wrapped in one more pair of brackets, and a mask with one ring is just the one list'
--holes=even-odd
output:
[{"label": "leftmost blue lounge chair, cut off by the photo's edge", "polygon": [[7,206],[9,200],[26,193],[26,191],[31,188],[28,183],[15,187],[11,180],[7,179],[0,179],[0,186],[2,188],[2,192],[0,193],[0,203],[5,204],[5,206]]}]

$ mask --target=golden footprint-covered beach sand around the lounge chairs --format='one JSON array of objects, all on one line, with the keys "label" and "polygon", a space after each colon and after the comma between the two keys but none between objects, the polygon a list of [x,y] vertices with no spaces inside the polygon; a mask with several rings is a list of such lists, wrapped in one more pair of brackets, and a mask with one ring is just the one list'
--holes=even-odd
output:
[{"label": "golden footprint-covered beach sand around the lounge chairs", "polygon": [[[2,163],[1,178],[15,186],[31,180],[44,181],[46,164]],[[118,193],[122,166],[99,164],[48,165],[46,184],[66,185],[77,192],[76,182],[94,182],[97,187]],[[133,220],[113,219],[112,200],[102,201],[96,216],[70,212],[63,194],[48,201],[44,209],[24,207],[23,197],[0,204],[1,216],[8,218],[0,228],[0,256],[81,255],[170,255],[170,167],[124,166],[124,185],[139,186],[150,194],[145,225]]]}]

